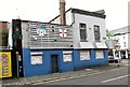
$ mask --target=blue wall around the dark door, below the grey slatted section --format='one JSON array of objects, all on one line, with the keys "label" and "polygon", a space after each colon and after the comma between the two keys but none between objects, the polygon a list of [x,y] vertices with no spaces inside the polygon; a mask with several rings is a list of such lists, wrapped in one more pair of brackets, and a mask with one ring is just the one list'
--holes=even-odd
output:
[{"label": "blue wall around the dark door, below the grey slatted section", "polygon": [[[42,64],[30,64],[30,52],[42,52],[43,59]],[[66,72],[74,70],[74,62],[63,62],[63,50],[30,50],[28,48],[23,49],[23,67],[24,76],[42,75],[52,73],[51,55],[58,55],[58,71]],[[73,58],[73,55],[72,55]]]}]

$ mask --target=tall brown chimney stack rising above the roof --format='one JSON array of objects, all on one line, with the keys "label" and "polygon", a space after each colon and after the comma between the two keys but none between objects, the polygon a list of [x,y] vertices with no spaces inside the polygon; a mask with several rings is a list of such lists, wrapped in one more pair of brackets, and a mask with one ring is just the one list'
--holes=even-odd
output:
[{"label": "tall brown chimney stack rising above the roof", "polygon": [[60,0],[60,15],[61,15],[61,25],[66,25],[65,0]]}]

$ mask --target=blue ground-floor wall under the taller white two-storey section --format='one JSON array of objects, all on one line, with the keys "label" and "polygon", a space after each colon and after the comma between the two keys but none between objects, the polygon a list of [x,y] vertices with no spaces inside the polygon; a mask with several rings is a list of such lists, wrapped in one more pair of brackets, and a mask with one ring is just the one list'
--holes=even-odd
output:
[{"label": "blue ground-floor wall under the taller white two-storey section", "polygon": [[80,60],[80,50],[76,49],[74,50],[74,68],[80,69],[80,68],[87,68],[91,66],[100,66],[100,64],[107,64],[108,63],[108,54],[106,49],[104,49],[104,58],[103,59],[96,59],[95,58],[95,49],[90,49],[90,60]]}]

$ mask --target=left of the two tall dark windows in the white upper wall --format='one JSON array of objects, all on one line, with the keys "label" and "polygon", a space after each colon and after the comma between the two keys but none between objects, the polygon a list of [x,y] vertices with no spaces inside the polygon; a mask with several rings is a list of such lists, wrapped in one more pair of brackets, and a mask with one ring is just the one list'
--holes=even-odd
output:
[{"label": "left of the two tall dark windows in the white upper wall", "polygon": [[86,24],[79,24],[79,29],[80,29],[80,41],[87,41]]}]

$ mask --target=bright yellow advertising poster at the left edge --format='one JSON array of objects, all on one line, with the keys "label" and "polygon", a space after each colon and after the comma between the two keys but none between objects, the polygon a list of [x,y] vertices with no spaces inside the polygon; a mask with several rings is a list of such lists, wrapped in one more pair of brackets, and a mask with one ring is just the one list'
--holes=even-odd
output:
[{"label": "bright yellow advertising poster at the left edge", "polygon": [[0,52],[0,78],[11,77],[11,52]]}]

